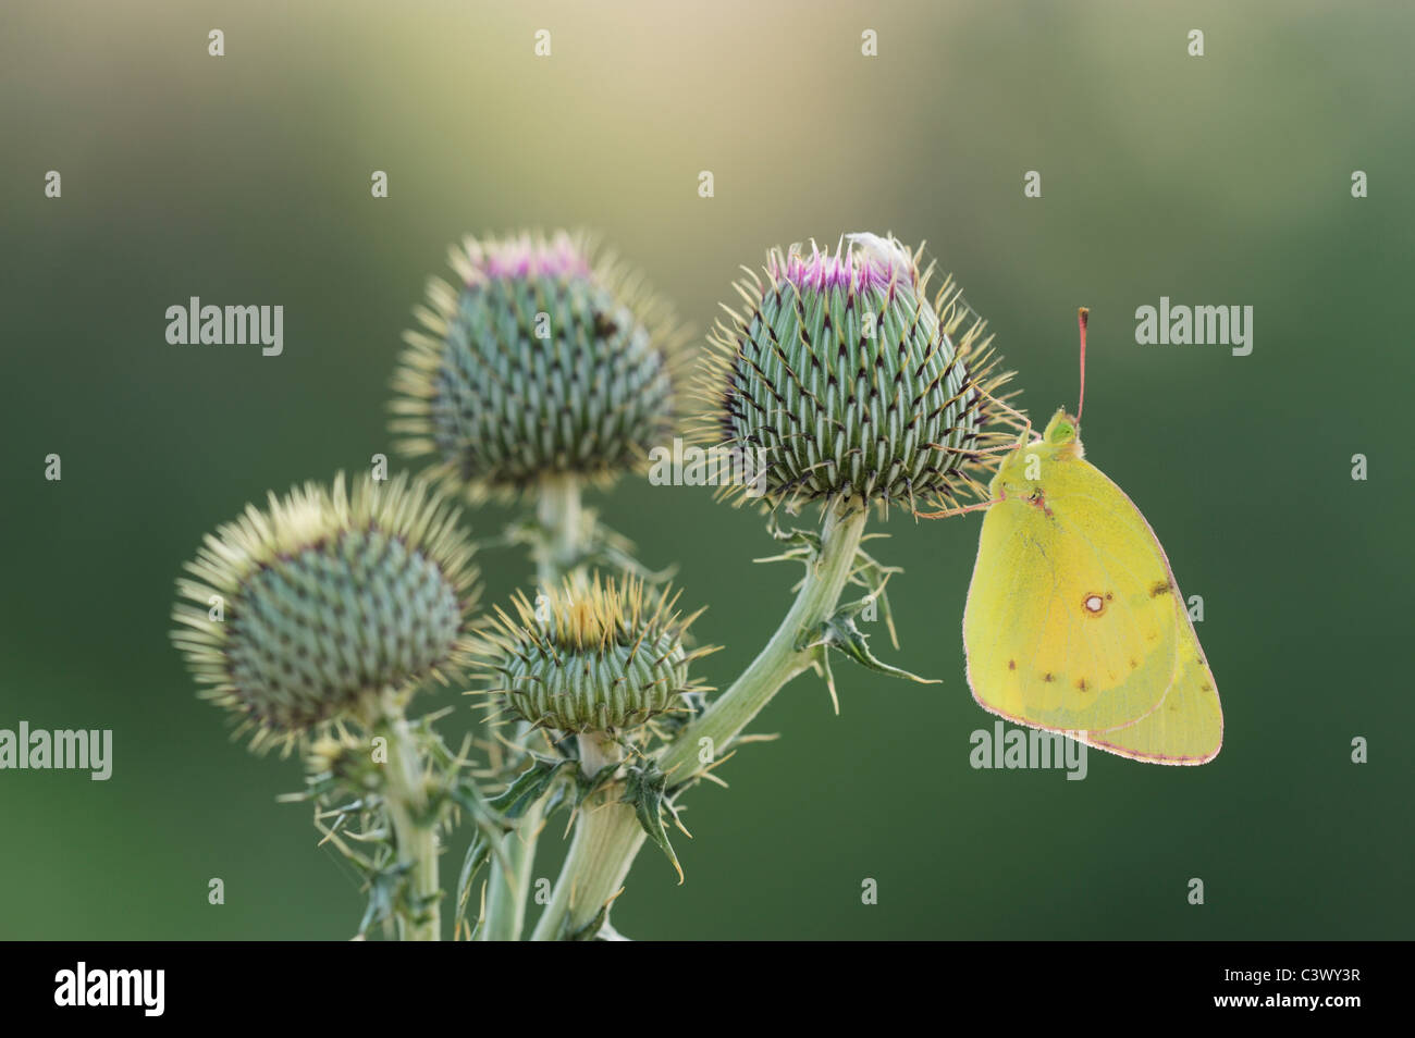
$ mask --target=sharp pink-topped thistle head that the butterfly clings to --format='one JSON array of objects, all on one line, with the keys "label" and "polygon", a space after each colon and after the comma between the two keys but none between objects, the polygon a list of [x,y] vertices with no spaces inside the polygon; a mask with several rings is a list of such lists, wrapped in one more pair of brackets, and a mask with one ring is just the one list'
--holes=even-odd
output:
[{"label": "sharp pink-topped thistle head that the butterfly clings to", "polygon": [[923,246],[848,238],[833,253],[774,249],[766,281],[749,270],[736,284],[746,310],[710,335],[698,438],[758,451],[771,503],[951,508],[961,489],[985,494],[972,472],[1006,441],[985,427],[1007,376],[993,375],[983,321],[951,280],[928,303]]}]

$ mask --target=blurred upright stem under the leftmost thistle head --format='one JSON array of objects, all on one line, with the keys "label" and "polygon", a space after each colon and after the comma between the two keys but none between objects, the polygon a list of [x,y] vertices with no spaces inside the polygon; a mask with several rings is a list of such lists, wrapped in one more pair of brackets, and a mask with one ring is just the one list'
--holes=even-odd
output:
[{"label": "blurred upright stem under the leftmost thistle head", "polygon": [[441,882],[437,877],[437,822],[426,816],[423,764],[402,703],[383,697],[388,730],[386,805],[398,844],[398,860],[409,865],[416,915],[399,918],[402,940],[441,940]]}]

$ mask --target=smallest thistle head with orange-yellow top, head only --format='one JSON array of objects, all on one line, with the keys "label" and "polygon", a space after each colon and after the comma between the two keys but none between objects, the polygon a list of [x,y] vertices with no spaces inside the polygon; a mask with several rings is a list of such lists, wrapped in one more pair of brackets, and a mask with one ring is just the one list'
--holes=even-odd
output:
[{"label": "smallest thistle head with orange-yellow top, head only", "polygon": [[474,656],[494,696],[536,727],[563,733],[623,733],[661,714],[682,713],[702,696],[683,636],[700,615],[681,617],[678,595],[637,578],[567,580],[497,608]]}]

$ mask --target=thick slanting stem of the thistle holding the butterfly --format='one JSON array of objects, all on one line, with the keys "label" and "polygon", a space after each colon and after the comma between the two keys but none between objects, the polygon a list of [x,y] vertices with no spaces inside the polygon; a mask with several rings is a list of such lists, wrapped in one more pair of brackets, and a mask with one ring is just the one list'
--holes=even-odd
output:
[{"label": "thick slanting stem of the thistle holding the butterfly", "polygon": [[[798,649],[797,642],[835,612],[855,567],[855,553],[867,518],[869,512],[863,508],[848,512],[828,509],[821,530],[821,553],[771,641],[732,687],[664,750],[659,768],[668,772],[672,785],[681,785],[708,766],[702,764],[702,740],[709,740],[710,764],[787,682],[811,667],[816,651]],[[533,939],[553,940],[565,932],[574,933],[587,926],[628,875],[645,834],[633,807],[610,802],[617,799],[617,789],[604,791],[597,806],[586,805],[582,812],[552,904],[541,918]]]}]

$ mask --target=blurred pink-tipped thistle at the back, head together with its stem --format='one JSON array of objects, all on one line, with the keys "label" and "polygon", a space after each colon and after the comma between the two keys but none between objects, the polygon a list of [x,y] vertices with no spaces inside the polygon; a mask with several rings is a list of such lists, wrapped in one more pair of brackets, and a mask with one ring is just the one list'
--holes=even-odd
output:
[{"label": "blurred pink-tipped thistle at the back, head together with its stem", "polygon": [[[399,450],[473,502],[533,503],[507,540],[531,550],[542,590],[594,564],[635,568],[582,491],[641,470],[681,421],[688,338],[672,308],[584,235],[467,238],[449,260],[457,284],[429,280],[393,376]],[[511,740],[504,781],[529,734]],[[541,824],[532,805],[497,847],[480,936],[519,938]]]}]

